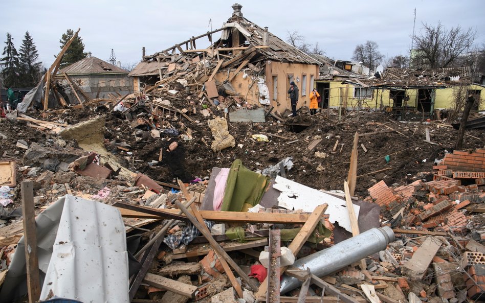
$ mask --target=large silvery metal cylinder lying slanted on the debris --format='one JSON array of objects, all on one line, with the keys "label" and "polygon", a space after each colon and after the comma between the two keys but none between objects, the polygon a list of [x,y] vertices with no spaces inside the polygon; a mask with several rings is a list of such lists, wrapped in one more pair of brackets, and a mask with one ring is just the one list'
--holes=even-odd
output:
[{"label": "large silvery metal cylinder lying slanted on the debris", "polygon": [[[372,228],[330,248],[307,255],[297,260],[293,267],[304,270],[310,268],[313,274],[319,277],[326,276],[386,249],[387,244],[394,239],[394,232],[390,227]],[[280,293],[284,294],[300,285],[301,282],[297,278],[283,275]]]}]

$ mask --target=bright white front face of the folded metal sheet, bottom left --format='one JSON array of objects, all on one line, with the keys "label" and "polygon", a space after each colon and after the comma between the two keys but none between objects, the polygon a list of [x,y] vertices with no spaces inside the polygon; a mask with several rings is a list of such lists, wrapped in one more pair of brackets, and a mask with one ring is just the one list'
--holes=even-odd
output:
[{"label": "bright white front face of the folded metal sheet, bottom left", "polygon": [[129,302],[126,234],[116,207],[65,196],[40,299]]}]

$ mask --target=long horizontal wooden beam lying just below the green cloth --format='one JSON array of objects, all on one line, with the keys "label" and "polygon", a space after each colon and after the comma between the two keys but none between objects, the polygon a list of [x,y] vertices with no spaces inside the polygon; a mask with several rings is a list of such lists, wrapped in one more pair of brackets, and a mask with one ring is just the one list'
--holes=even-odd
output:
[{"label": "long horizontal wooden beam lying just below the green cloth", "polygon": [[[178,216],[178,209],[173,208],[151,208],[137,205],[130,205],[123,202],[116,202],[121,216],[124,218],[175,218],[187,221],[185,216]],[[129,208],[127,208],[129,207]],[[215,212],[199,211],[202,218],[216,222],[247,222],[247,223],[281,223],[281,224],[304,224],[310,215],[308,214],[279,214],[279,213],[244,213],[244,212]],[[175,217],[174,217],[175,216]]]}]

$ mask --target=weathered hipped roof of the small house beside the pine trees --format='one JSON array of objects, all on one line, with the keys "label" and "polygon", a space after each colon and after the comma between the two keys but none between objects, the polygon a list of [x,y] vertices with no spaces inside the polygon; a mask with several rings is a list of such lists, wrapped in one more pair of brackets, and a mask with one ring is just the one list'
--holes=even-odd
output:
[{"label": "weathered hipped roof of the small house beside the pine trees", "polygon": [[66,73],[68,75],[93,75],[93,74],[117,74],[128,75],[126,69],[115,66],[104,60],[96,57],[86,57],[73,63],[67,67],[62,68],[59,74]]}]

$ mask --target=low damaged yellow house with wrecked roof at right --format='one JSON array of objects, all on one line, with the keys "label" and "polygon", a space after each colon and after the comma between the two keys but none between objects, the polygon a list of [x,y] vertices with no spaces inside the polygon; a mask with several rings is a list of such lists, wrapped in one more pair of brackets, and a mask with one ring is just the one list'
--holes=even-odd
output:
[{"label": "low damaged yellow house with wrecked roof at right", "polygon": [[341,81],[340,86],[334,84],[339,87],[339,95],[329,99],[330,108],[381,110],[387,107],[431,117],[435,110],[453,108],[460,93],[481,100],[473,110],[485,109],[483,85],[472,83],[470,67],[424,70],[388,67],[382,74],[370,77],[320,74],[318,83],[335,79]]}]

